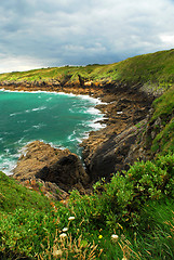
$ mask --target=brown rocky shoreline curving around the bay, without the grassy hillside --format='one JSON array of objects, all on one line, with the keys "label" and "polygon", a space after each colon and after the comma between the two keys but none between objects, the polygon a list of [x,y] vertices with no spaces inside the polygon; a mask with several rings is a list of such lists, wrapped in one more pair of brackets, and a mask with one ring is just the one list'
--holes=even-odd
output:
[{"label": "brown rocky shoreline curving around the bay, without the grassy hillside", "polygon": [[[26,186],[29,185],[30,188],[34,188],[31,183],[35,183],[35,188],[39,190],[39,185],[36,187],[36,181],[38,181],[46,195],[52,194],[53,197],[62,199],[68,196],[67,192],[72,188],[85,193],[98,179],[109,180],[112,173],[128,169],[129,165],[136,159],[148,157],[148,153],[142,150],[139,132],[146,126],[146,117],[155,95],[144,91],[140,84],[95,83],[79,80],[64,84],[55,82],[1,82],[0,88],[11,91],[55,91],[88,94],[92,98],[99,98],[106,103],[96,106],[106,115],[103,120],[107,125],[106,128],[92,131],[81,144],[85,171],[77,155],[69,151],[66,151],[65,154],[57,152],[51,146],[45,147],[46,144],[37,143],[37,141],[27,147],[27,154],[19,158],[13,174],[15,179]],[[45,151],[48,152],[45,153]],[[43,156],[45,154],[46,156]],[[57,196],[55,191],[58,188],[62,191],[59,194],[64,194],[63,197],[62,195]]]}]

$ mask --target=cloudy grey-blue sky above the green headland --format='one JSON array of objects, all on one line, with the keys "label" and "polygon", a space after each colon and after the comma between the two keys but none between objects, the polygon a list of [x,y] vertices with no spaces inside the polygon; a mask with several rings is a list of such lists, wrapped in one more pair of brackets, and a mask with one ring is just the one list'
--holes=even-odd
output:
[{"label": "cloudy grey-blue sky above the green headland", "polygon": [[0,73],[174,48],[174,0],[1,0]]}]

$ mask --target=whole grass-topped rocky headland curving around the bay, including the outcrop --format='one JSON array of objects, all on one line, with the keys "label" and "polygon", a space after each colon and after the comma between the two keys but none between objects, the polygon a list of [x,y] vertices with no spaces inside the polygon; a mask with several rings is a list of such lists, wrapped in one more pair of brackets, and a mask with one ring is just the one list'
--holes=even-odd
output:
[{"label": "whole grass-topped rocky headland curving around the bay, including the outcrop", "polygon": [[[4,90],[86,94],[104,102],[97,108],[105,114],[103,122],[106,127],[92,131],[81,144],[84,167],[69,151],[66,155],[61,151],[52,151],[58,154],[61,162],[57,162],[59,157],[51,162],[54,157],[52,153],[50,159],[48,156],[44,159],[42,155],[52,147],[46,146],[44,150],[45,144],[34,142],[27,147],[26,156],[19,158],[13,177],[25,185],[37,179],[55,183],[64,192],[76,187],[85,193],[97,180],[110,180],[113,173],[128,170],[135,160],[152,158],[155,153],[151,153],[150,144],[147,143],[147,135],[151,136],[152,126],[157,122],[149,125],[151,104],[172,84],[172,73],[166,75],[166,68],[173,53],[173,50],[158,52],[111,65],[66,66],[0,75],[0,88]],[[41,157],[38,161],[35,161],[36,150]],[[43,160],[45,164],[42,165]],[[69,166],[63,169],[63,164]],[[68,176],[71,169],[73,173]],[[55,178],[57,172],[64,172],[66,178]],[[61,181],[62,178],[66,180]]]}]

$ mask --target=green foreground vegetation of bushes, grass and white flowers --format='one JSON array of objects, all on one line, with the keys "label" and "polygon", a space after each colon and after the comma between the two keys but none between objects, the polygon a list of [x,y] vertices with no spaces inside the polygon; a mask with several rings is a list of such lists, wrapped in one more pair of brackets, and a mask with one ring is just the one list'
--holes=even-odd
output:
[{"label": "green foreground vegetation of bushes, grass and white flowers", "polygon": [[169,154],[138,161],[110,183],[103,179],[91,195],[72,191],[67,206],[31,192],[48,208],[26,209],[23,203],[1,210],[0,249],[14,259],[173,259],[173,186],[174,155]]}]

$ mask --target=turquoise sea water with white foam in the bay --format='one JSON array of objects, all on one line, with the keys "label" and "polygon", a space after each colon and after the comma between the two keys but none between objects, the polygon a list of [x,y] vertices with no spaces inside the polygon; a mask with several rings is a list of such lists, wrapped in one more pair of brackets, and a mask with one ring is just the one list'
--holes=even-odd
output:
[{"label": "turquoise sea water with white foam in the bay", "polygon": [[101,127],[97,102],[83,95],[0,91],[0,170],[11,173],[22,147],[35,140],[80,155],[78,144]]}]

